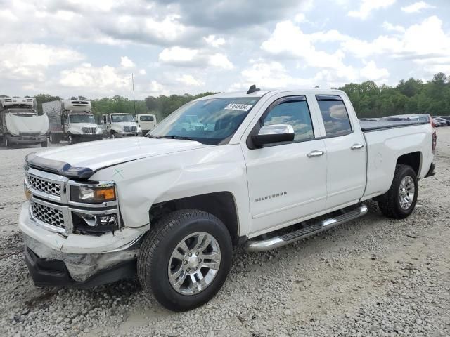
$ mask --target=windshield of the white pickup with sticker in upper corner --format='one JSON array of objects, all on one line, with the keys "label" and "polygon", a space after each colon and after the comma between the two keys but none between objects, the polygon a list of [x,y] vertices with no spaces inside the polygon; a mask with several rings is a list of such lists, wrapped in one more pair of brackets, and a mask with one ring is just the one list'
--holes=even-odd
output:
[{"label": "windshield of the white pickup with sticker in upper corner", "polygon": [[149,137],[188,138],[218,145],[233,136],[259,98],[211,98],[187,103],[169,115]]}]

